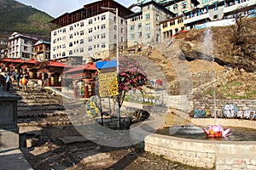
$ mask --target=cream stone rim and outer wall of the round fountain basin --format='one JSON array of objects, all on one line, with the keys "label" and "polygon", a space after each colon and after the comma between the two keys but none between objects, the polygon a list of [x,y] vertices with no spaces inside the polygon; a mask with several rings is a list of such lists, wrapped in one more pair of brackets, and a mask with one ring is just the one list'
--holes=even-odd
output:
[{"label": "cream stone rim and outer wall of the round fountain basin", "polygon": [[[159,134],[159,131],[154,133],[155,128],[151,127],[152,122],[150,121],[140,122],[132,127],[131,135],[135,139],[143,139],[144,150],[190,166],[214,167],[215,169],[256,169],[255,121],[235,119],[215,121],[214,119],[197,118],[191,119],[190,122],[195,127],[181,130],[180,133],[191,135],[191,131],[193,131],[192,136],[202,134],[201,139],[171,136],[169,133],[173,133],[173,131],[170,131],[169,128],[166,130],[168,135]],[[199,127],[214,124],[220,124],[224,126],[224,129],[231,127],[230,133],[233,134],[231,134],[230,140],[236,136],[236,133],[238,136],[240,135],[241,139],[239,139],[240,137],[236,137],[234,141],[225,141],[222,138],[208,139],[206,134],[201,133]],[[247,135],[241,136],[244,134]]]}]

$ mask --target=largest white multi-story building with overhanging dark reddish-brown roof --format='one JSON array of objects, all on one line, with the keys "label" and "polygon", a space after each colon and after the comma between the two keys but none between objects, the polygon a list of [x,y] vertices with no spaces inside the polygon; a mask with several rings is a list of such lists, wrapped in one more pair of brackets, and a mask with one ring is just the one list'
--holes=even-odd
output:
[{"label": "largest white multi-story building with overhanging dark reddish-brown roof", "polygon": [[[119,10],[118,36],[115,8]],[[127,22],[124,18],[128,14],[132,14],[131,10],[119,3],[102,0],[61,15],[52,21],[61,28],[51,31],[51,59],[83,56],[85,63],[91,57],[111,57],[117,48],[117,37],[119,48],[127,46]]]}]

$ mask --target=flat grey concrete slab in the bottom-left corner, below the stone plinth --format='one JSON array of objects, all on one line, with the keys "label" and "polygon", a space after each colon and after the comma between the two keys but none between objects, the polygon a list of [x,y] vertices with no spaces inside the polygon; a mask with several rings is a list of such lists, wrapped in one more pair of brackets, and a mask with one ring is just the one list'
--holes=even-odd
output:
[{"label": "flat grey concrete slab in the bottom-left corner, below the stone plinth", "polygon": [[8,149],[0,151],[1,170],[32,170],[20,149]]}]

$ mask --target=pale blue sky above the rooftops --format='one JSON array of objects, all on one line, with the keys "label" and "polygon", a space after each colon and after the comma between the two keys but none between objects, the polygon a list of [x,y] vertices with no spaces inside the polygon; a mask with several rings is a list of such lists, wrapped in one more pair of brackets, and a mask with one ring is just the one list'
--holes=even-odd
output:
[{"label": "pale blue sky above the rooftops", "polygon": [[[19,3],[37,8],[50,16],[57,18],[65,13],[71,13],[79,8],[83,8],[85,4],[94,3],[99,0],[16,0]],[[137,0],[115,0],[117,3],[129,7]]]}]

